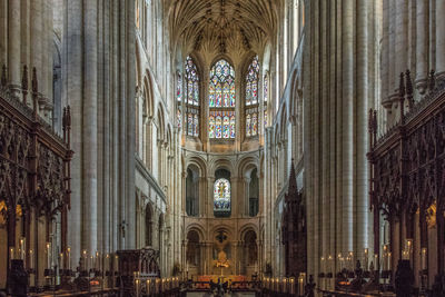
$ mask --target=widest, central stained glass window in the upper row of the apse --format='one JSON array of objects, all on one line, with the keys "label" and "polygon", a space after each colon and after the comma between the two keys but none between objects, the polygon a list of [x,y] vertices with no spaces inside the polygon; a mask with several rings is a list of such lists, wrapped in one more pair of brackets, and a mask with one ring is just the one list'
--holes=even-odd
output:
[{"label": "widest, central stained glass window in the upper row of the apse", "polygon": [[235,70],[221,59],[210,70],[209,82],[209,138],[235,138]]}]

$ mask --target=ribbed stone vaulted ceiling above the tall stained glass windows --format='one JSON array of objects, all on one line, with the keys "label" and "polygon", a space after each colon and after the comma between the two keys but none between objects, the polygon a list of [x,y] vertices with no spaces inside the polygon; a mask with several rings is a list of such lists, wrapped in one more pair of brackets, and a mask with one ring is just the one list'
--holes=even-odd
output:
[{"label": "ribbed stone vaulted ceiling above the tall stained glass windows", "polygon": [[279,0],[176,0],[168,10],[170,38],[204,55],[261,51],[276,34]]}]

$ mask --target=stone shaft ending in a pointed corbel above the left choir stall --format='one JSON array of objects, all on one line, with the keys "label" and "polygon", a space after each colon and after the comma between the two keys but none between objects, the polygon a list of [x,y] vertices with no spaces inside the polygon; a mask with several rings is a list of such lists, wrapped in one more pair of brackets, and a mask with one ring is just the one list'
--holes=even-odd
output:
[{"label": "stone shaft ending in a pointed corbel above the left choir stall", "polygon": [[16,91],[21,85],[20,3],[21,1],[17,0],[8,1],[8,73],[9,83]]}]

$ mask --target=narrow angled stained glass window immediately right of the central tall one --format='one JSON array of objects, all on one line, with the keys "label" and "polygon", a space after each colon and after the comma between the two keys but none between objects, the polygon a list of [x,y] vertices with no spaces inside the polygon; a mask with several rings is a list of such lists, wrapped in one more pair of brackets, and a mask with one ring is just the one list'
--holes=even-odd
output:
[{"label": "narrow angled stained glass window immediately right of the central tall one", "polygon": [[245,99],[245,125],[246,137],[258,135],[258,77],[259,62],[258,56],[255,56],[246,75],[246,99]]}]

